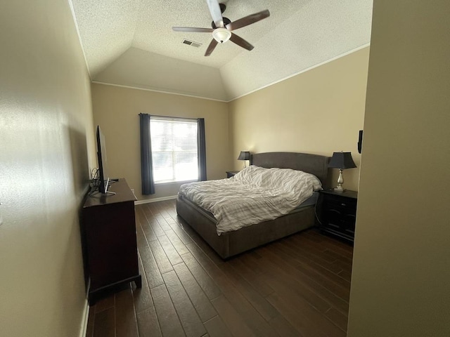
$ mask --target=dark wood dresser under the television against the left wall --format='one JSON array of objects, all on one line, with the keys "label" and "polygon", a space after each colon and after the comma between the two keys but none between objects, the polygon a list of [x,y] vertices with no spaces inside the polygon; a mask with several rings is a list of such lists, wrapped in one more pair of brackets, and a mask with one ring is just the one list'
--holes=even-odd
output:
[{"label": "dark wood dresser under the television against the left wall", "polygon": [[120,284],[141,287],[136,245],[134,201],[127,181],[108,189],[115,194],[88,195],[82,209],[85,271],[90,279],[89,304]]}]

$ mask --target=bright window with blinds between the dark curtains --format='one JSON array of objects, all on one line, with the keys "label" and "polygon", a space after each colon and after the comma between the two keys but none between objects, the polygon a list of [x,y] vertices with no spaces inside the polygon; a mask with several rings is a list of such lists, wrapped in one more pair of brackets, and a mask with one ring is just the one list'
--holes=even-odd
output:
[{"label": "bright window with blinds between the dark curtains", "polygon": [[196,119],[150,117],[155,183],[198,180]]}]

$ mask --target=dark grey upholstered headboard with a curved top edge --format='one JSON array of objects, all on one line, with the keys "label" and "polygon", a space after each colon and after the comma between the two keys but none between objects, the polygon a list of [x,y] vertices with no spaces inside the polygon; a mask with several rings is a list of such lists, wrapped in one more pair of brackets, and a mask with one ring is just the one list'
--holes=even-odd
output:
[{"label": "dark grey upholstered headboard with a curved top edge", "polygon": [[265,152],[252,154],[250,164],[271,169],[293,169],[314,174],[326,185],[330,157],[300,152]]}]

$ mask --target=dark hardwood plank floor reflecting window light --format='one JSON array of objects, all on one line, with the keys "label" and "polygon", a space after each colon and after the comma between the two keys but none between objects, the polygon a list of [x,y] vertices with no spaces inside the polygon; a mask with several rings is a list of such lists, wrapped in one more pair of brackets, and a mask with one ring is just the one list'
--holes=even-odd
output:
[{"label": "dark hardwood plank floor reflecting window light", "polygon": [[352,246],[307,230],[224,261],[174,200],[136,227],[142,288],[91,306],[86,336],[346,336]]}]

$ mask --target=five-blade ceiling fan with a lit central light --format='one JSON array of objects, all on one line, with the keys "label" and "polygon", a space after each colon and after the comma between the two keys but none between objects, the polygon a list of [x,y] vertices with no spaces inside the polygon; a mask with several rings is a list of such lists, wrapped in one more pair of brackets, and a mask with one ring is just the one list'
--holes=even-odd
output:
[{"label": "five-blade ceiling fan with a lit central light", "polygon": [[226,9],[225,4],[219,4],[219,1],[217,0],[206,0],[206,2],[212,16],[212,28],[172,27],[172,29],[176,32],[212,33],[213,39],[206,50],[205,56],[211,55],[218,43],[223,44],[228,40],[251,51],[254,47],[249,44],[248,41],[245,41],[242,37],[238,37],[238,35],[234,34],[232,31],[267,18],[269,17],[270,12],[268,10],[261,11],[231,22],[229,18],[222,16],[222,13],[224,13]]}]

